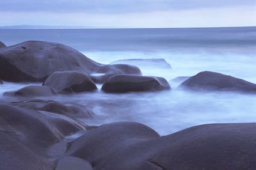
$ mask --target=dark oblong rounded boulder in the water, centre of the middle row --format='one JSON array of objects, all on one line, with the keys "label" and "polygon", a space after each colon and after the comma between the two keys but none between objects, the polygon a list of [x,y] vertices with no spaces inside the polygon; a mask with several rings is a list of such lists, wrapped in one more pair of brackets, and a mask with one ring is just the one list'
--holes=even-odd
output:
[{"label": "dark oblong rounded boulder in the water, centre of the middle row", "polygon": [[107,79],[107,81],[102,85],[101,90],[106,93],[160,91],[170,90],[170,85],[167,80],[162,77],[117,74]]}]

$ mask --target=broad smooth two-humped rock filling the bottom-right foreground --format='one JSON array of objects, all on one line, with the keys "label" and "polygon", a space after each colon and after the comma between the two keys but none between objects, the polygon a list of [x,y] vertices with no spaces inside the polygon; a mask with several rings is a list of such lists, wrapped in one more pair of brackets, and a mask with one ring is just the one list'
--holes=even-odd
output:
[{"label": "broad smooth two-humped rock filling the bottom-right foreground", "polygon": [[137,123],[90,130],[65,155],[93,169],[255,169],[256,123],[205,124],[160,137]]}]

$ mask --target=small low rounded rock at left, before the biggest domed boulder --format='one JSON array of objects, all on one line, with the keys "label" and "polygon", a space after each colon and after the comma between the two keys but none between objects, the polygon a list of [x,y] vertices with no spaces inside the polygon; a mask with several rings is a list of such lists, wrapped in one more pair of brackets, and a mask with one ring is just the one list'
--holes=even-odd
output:
[{"label": "small low rounded rock at left, before the biggest domed boulder", "polygon": [[14,96],[20,97],[39,97],[39,96],[54,96],[56,93],[52,88],[40,85],[29,85],[23,87],[14,93]]}]

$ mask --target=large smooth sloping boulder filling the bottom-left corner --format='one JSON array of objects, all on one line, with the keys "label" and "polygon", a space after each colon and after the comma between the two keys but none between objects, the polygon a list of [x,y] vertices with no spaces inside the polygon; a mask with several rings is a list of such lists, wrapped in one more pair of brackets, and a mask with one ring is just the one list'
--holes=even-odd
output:
[{"label": "large smooth sloping boulder filling the bottom-left corner", "polygon": [[63,115],[0,105],[0,169],[54,169],[46,150],[64,136],[86,130]]}]

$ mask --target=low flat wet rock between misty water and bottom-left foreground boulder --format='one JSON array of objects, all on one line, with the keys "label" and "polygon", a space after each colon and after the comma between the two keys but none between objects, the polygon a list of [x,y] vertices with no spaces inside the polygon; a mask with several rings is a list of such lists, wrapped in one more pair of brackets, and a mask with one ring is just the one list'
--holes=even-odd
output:
[{"label": "low flat wet rock between misty water and bottom-left foreground boulder", "polygon": [[95,115],[91,108],[79,105],[78,103],[60,103],[54,100],[33,99],[11,102],[10,104],[35,111],[46,111],[54,114],[65,115],[66,117],[70,117],[74,120],[77,118],[91,119]]}]

